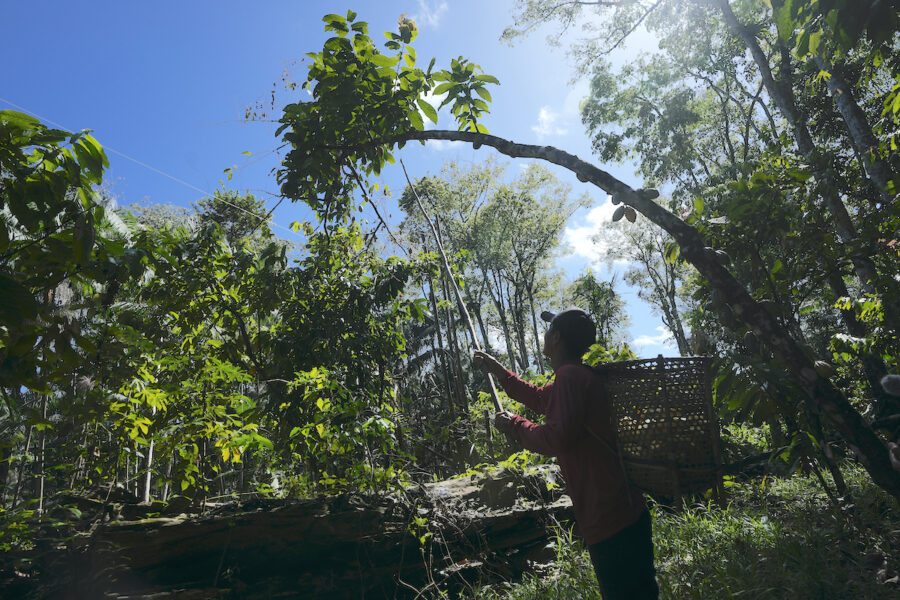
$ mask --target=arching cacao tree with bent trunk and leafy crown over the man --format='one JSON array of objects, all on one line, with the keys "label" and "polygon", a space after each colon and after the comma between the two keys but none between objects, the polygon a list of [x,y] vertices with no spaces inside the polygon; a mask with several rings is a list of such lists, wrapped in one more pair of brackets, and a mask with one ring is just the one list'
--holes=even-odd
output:
[{"label": "arching cacao tree with bent trunk and leafy crown over the man", "polygon": [[[393,160],[391,150],[395,145],[413,140],[460,140],[475,147],[487,144],[507,156],[541,158],[563,166],[580,180],[611,194],[614,202],[627,204],[665,229],[678,244],[680,256],[694,265],[739,319],[758,332],[816,410],[856,453],[873,480],[900,497],[900,474],[891,468],[884,444],[844,394],[816,372],[802,345],[754,300],[715,251],[706,246],[697,227],[656,204],[655,191],[635,190],[556,148],[516,144],[485,133],[480,118],[487,104],[474,96],[483,96],[485,84],[493,78],[482,75],[477,65],[464,59],[452,61],[450,70],[437,73],[433,72],[433,61],[427,71],[416,68],[415,53],[408,47],[415,32],[409,28],[390,34],[386,48],[395,55],[382,54],[368,37],[367,26],[356,22],[355,17],[352,12],[346,18],[326,16],[326,30],[336,35],[326,41],[322,52],[315,54],[310,66],[304,85],[313,98],[285,107],[279,134],[284,134],[291,150],[279,179],[286,195],[306,199],[326,215],[346,214],[348,204],[342,197],[354,189],[369,193],[374,186],[363,175],[380,172],[386,162]],[[448,94],[444,103],[452,105],[451,112],[460,128],[467,131],[424,129],[419,109],[426,114],[429,110],[421,107],[419,101],[422,94],[432,91]]]}]

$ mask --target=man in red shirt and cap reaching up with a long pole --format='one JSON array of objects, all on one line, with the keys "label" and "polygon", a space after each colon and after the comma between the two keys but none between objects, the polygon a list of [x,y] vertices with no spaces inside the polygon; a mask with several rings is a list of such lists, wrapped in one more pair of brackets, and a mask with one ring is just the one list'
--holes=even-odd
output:
[{"label": "man in red shirt and cap reaching up with a long pole", "polygon": [[496,377],[510,398],[546,415],[538,425],[498,412],[494,424],[524,448],[557,458],[603,599],[656,599],[650,513],[613,453],[612,413],[601,377],[581,362],[596,326],[575,307],[545,311],[541,318],[550,323],[543,353],[555,373],[552,383],[537,387],[489,354],[475,353],[475,366]]}]

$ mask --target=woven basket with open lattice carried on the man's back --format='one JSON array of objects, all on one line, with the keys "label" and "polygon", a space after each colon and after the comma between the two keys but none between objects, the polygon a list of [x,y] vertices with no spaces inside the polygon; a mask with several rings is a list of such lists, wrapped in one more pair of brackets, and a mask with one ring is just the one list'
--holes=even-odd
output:
[{"label": "woven basket with open lattice carried on the man's back", "polygon": [[619,459],[631,483],[673,499],[712,488],[721,499],[710,359],[660,355],[594,368],[604,376]]}]

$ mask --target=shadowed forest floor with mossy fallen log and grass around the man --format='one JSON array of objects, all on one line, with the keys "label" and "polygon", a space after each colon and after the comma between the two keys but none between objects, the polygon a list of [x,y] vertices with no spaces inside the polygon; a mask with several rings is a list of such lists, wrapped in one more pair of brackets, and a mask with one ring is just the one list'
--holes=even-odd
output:
[{"label": "shadowed forest floor with mossy fallen log and grass around the man", "polygon": [[[84,592],[119,599],[599,599],[567,498],[547,489],[555,469],[529,471],[469,474],[403,501],[125,510],[129,520],[95,523],[31,563],[4,561],[0,596],[67,598],[89,583]],[[653,505],[663,598],[896,598],[900,514],[860,468],[844,471],[840,508],[803,475],[729,482],[724,508]]]}]

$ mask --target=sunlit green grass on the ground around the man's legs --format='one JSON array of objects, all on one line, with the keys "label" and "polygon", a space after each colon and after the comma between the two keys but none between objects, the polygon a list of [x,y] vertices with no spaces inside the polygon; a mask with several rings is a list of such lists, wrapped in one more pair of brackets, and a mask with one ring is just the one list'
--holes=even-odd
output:
[{"label": "sunlit green grass on the ground around the man's legs", "polygon": [[[900,510],[855,465],[853,504],[837,509],[813,476],[735,483],[725,508],[653,507],[657,579],[666,599],[894,599]],[[557,537],[549,572],[486,587],[472,600],[599,599],[587,553]]]}]

